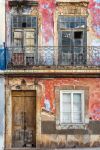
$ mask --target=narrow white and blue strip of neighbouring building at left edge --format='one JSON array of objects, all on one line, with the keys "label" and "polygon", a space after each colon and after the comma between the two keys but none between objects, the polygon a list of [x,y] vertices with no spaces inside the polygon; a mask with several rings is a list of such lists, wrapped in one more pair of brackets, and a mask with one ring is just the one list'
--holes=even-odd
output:
[{"label": "narrow white and blue strip of neighbouring building at left edge", "polygon": [[5,1],[0,1],[0,149],[4,149],[5,134],[5,69],[4,42],[5,42]]}]

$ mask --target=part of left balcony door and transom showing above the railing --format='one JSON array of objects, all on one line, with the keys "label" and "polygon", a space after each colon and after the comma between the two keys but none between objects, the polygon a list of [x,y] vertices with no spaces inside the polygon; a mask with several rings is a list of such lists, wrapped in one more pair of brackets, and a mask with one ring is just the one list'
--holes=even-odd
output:
[{"label": "part of left balcony door and transom showing above the railing", "polygon": [[37,17],[12,16],[12,44],[15,47],[37,45]]}]

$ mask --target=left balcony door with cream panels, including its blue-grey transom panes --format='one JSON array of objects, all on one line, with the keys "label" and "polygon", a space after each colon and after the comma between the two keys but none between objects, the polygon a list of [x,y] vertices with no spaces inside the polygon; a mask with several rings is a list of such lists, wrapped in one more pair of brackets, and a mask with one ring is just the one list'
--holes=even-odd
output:
[{"label": "left balcony door with cream panels, including its blue-grey transom panes", "polygon": [[11,19],[13,65],[33,65],[37,61],[37,17],[14,15]]}]

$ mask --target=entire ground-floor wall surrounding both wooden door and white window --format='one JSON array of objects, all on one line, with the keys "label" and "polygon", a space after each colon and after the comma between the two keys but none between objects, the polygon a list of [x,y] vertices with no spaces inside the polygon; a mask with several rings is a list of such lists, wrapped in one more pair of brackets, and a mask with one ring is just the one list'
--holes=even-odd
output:
[{"label": "entire ground-floor wall surrounding both wooden door and white window", "polygon": [[[26,85],[22,84],[22,80]],[[20,89],[17,89],[17,86]],[[57,129],[57,98],[55,88],[69,87],[87,90],[89,122],[80,129]],[[36,90],[37,147],[99,146],[100,139],[100,80],[99,78],[39,79],[32,77],[6,78],[6,147],[12,139],[12,90]],[[10,117],[9,117],[10,116]]]}]

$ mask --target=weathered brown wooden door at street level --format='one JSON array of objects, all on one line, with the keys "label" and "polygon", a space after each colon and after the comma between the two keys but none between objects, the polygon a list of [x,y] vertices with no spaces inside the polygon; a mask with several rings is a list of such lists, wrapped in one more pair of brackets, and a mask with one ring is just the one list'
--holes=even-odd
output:
[{"label": "weathered brown wooden door at street level", "polygon": [[36,92],[12,92],[12,146],[36,146]]}]

